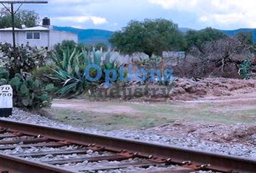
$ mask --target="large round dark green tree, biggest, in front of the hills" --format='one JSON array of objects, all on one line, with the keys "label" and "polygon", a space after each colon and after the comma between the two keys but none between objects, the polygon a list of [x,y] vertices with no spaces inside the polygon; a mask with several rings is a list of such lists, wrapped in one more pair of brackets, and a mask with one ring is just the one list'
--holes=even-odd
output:
[{"label": "large round dark green tree, biggest, in front of the hills", "polygon": [[121,53],[143,52],[162,56],[167,50],[184,50],[185,40],[178,25],[167,19],[132,20],[109,40]]}]

